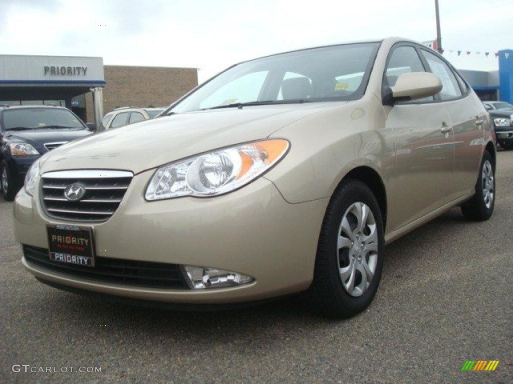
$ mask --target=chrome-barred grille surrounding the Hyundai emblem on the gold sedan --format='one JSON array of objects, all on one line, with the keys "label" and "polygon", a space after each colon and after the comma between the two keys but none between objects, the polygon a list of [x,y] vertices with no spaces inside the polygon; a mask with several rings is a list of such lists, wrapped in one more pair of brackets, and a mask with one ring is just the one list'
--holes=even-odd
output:
[{"label": "chrome-barred grille surrounding the Hyundai emblem on the gold sedan", "polygon": [[[49,216],[70,221],[106,221],[119,207],[133,174],[120,170],[88,169],[48,172],[41,177],[41,198]],[[84,195],[71,201],[68,186],[80,184]]]}]

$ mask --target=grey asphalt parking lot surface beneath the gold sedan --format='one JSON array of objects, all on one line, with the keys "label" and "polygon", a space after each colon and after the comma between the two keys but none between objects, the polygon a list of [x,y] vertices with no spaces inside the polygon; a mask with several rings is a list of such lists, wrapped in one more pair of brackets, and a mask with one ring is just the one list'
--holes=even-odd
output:
[{"label": "grey asphalt parking lot surface beneath the gold sedan", "polygon": [[[0,382],[513,382],[513,152],[484,223],[459,209],[386,247],[369,309],[346,321],[301,296],[225,312],[103,303],[38,283],[0,199]],[[500,360],[462,372],[466,360]],[[101,373],[12,372],[101,367]],[[68,369],[69,371],[69,369]]]}]

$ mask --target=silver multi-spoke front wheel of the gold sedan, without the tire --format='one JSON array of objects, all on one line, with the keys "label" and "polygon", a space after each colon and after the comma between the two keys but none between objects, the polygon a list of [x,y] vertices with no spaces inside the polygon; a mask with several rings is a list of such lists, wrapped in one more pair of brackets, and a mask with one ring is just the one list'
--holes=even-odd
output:
[{"label": "silver multi-spoke front wheel of the gold sedan, without the tire", "polygon": [[356,202],[346,210],[337,249],[342,286],[351,296],[361,296],[372,282],[378,261],[378,229],[366,204]]}]

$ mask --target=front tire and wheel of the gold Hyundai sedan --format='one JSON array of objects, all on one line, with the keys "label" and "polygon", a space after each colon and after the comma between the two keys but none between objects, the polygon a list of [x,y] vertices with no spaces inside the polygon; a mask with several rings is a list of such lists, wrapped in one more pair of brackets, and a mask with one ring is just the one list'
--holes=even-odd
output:
[{"label": "front tire and wheel of the gold Hyundai sedan", "polygon": [[376,198],[366,184],[345,181],[326,210],[310,287],[322,314],[347,318],[368,307],[381,280],[384,244]]}]

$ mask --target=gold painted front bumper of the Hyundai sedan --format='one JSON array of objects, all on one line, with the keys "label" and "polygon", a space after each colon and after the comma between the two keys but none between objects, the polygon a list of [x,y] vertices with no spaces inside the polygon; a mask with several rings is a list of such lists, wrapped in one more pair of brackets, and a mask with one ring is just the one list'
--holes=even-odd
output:
[{"label": "gold painted front bumper of the Hyundai sedan", "polygon": [[[228,195],[147,202],[153,171],[134,176],[115,214],[93,227],[98,257],[198,265],[250,275],[254,281],[206,290],[156,289],[77,278],[30,264],[37,278],[91,292],[168,303],[258,301],[308,288],[319,232],[329,199],[289,204],[260,178]],[[14,231],[22,244],[48,248],[49,218],[38,193],[22,189],[14,205]],[[84,225],[82,223],[82,225]]]}]

